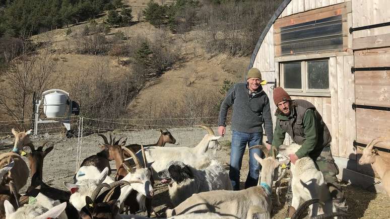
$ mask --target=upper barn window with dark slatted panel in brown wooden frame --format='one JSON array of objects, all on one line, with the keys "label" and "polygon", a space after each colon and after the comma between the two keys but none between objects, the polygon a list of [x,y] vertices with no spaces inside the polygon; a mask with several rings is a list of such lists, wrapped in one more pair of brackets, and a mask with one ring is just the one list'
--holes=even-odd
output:
[{"label": "upper barn window with dark slatted panel in brown wooden frame", "polygon": [[347,2],[277,19],[275,56],[346,51],[351,7]]}]

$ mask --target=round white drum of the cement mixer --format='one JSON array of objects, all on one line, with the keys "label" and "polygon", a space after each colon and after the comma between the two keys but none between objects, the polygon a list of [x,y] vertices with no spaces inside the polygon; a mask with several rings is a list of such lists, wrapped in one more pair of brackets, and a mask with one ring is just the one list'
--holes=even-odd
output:
[{"label": "round white drum of the cement mixer", "polygon": [[66,94],[53,92],[46,94],[43,98],[43,112],[47,118],[61,117],[67,109],[68,96]]}]

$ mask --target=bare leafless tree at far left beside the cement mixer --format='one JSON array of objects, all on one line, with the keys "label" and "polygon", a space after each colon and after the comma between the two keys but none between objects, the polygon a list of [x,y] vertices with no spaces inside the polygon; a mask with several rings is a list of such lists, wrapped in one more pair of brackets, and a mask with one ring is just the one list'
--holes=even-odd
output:
[{"label": "bare leafless tree at far left beside the cement mixer", "polygon": [[39,53],[23,44],[22,54],[10,62],[0,82],[0,107],[14,120],[23,124],[24,119],[32,114],[32,94],[37,98],[53,82],[51,76],[56,71],[55,54],[49,46]]}]

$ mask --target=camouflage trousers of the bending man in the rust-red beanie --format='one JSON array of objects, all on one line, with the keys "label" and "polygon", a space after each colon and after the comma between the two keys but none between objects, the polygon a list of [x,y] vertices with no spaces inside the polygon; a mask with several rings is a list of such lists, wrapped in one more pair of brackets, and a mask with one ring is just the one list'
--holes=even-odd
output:
[{"label": "camouflage trousers of the bending man in the rust-red beanie", "polygon": [[[335,160],[332,157],[331,147],[330,144],[327,145],[322,149],[321,154],[314,160],[314,163],[317,166],[317,169],[319,169],[323,177],[325,179],[325,182],[327,182],[329,191],[331,192],[331,196],[333,198],[333,203],[337,208],[340,210],[347,211],[348,205],[346,204],[346,200],[344,197],[343,189],[340,186],[339,180],[337,179],[336,175],[339,174],[339,168],[337,167]],[[286,194],[286,203],[291,206],[292,201],[292,190],[291,190],[291,181],[288,182],[288,190]]]}]

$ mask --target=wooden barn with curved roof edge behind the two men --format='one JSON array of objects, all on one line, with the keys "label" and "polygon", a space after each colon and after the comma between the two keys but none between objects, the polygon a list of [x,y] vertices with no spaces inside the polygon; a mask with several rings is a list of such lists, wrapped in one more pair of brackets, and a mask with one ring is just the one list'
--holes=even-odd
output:
[{"label": "wooden barn with curved roof edge behind the two men", "polygon": [[[331,130],[339,177],[376,189],[371,167],[358,164],[356,145],[390,137],[389,9],[389,0],[285,0],[248,66],[268,81],[273,112],[275,86],[313,103]],[[390,161],[390,141],[377,147]]]}]

